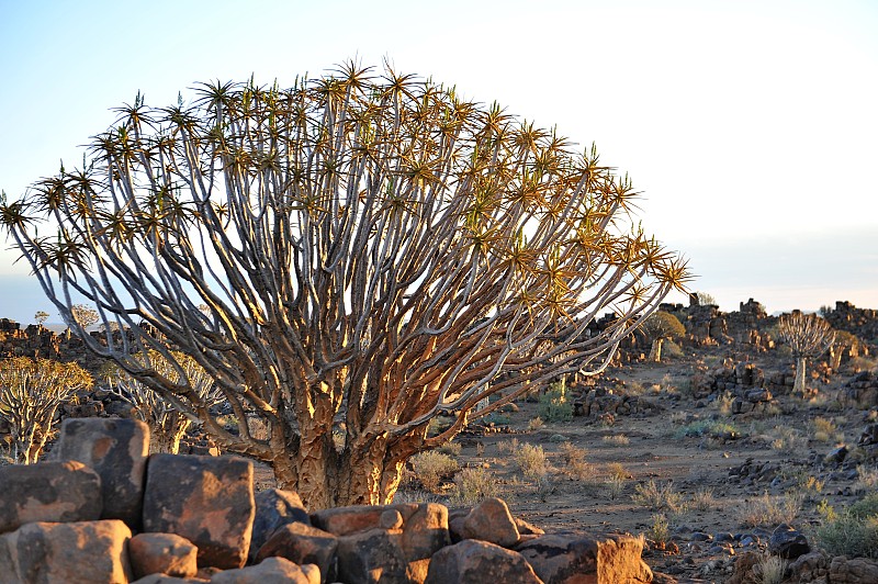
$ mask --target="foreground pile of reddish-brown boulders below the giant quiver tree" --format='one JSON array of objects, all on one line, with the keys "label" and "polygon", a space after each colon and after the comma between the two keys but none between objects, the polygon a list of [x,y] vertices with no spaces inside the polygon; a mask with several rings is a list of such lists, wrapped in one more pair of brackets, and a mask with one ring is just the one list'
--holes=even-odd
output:
[{"label": "foreground pile of reddish-brown boulders below the giant quiver tree", "polygon": [[235,457],[153,454],[131,419],[68,419],[55,460],[0,468],[0,584],[652,581],[643,540],[545,535],[486,499],[307,513]]}]

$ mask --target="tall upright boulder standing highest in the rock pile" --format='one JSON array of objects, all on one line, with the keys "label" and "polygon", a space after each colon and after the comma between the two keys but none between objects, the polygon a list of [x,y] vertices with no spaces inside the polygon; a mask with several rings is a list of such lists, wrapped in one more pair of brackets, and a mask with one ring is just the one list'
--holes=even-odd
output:
[{"label": "tall upright boulder standing highest in the rock pile", "polygon": [[135,419],[65,419],[56,460],[78,460],[101,476],[102,519],[122,519],[140,527],[149,427]]}]

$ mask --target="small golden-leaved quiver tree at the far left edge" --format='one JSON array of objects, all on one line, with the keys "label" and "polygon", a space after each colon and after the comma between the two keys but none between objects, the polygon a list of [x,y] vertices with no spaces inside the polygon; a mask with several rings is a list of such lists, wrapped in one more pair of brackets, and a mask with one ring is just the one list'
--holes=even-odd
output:
[{"label": "small golden-leaved quiver tree at the far left edge", "polygon": [[36,462],[53,435],[58,406],[91,384],[91,375],[77,363],[27,357],[0,360],[0,417],[12,428],[12,458],[24,464]]}]

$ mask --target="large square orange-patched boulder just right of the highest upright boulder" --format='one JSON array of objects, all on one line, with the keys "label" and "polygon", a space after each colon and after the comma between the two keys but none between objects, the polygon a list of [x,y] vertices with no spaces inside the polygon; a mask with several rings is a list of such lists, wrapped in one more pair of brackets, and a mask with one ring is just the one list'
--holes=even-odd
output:
[{"label": "large square orange-patched boulder just right of the highest upright boulder", "polygon": [[199,549],[199,566],[241,568],[256,514],[254,465],[241,458],[149,457],[144,531],[177,534]]}]

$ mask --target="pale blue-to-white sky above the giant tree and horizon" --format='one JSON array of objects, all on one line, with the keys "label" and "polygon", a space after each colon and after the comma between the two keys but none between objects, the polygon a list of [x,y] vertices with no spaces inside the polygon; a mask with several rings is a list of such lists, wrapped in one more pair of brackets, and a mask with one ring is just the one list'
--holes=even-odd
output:
[{"label": "pale blue-to-white sky above the giant tree and horizon", "polygon": [[[81,164],[138,91],[386,58],[595,143],[723,311],[878,308],[876,31],[874,0],[0,0],[0,189]],[[55,319],[9,245],[0,317]]]}]

